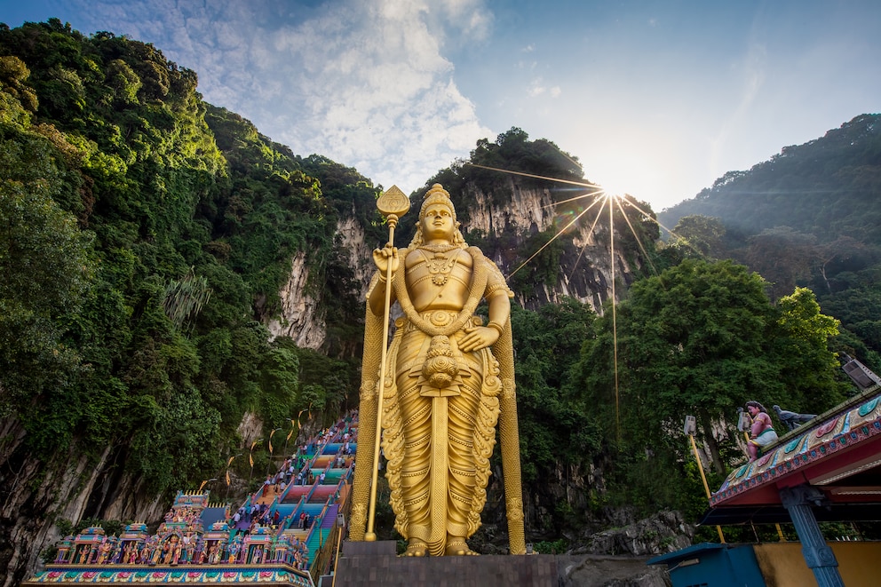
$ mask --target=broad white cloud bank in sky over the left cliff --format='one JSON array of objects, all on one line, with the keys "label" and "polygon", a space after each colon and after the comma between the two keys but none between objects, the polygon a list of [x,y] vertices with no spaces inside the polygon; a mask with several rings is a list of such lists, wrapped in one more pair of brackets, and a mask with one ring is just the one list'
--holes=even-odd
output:
[{"label": "broad white cloud bank in sky over the left cliff", "polygon": [[415,189],[489,134],[442,54],[450,38],[488,36],[492,15],[479,0],[348,0],[283,13],[269,0],[111,1],[81,10],[95,30],[128,32],[194,69],[206,100],[295,153],[327,155],[384,186]]}]

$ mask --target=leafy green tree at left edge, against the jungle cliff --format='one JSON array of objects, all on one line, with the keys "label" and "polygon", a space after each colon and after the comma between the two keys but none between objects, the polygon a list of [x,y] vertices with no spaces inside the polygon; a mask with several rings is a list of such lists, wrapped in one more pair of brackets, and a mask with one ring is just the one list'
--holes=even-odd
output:
[{"label": "leafy green tree at left edge, against the jungle cliff", "polygon": [[71,180],[49,141],[0,128],[0,413],[75,382],[81,357],[66,337],[93,264],[92,235],[54,199]]}]

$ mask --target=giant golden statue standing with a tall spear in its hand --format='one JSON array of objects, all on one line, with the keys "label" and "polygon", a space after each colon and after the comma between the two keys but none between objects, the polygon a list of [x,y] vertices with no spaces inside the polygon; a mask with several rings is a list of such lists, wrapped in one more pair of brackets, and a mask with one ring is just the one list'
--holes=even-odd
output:
[{"label": "giant golden statue standing with a tall spear in its hand", "polygon": [[[393,190],[402,195],[396,187],[386,194]],[[406,212],[409,202],[405,206],[388,216],[391,234],[397,214]],[[390,237],[384,249],[373,251],[377,274],[367,300],[350,538],[365,540],[369,521],[366,539],[375,540],[368,520],[375,487],[369,499],[368,494],[381,394],[386,478],[395,528],[408,541],[406,555],[476,554],[465,540],[480,527],[496,423],[509,549],[523,554],[509,301],[513,294],[496,265],[478,248],[467,246],[458,226],[448,192],[435,184],[425,194],[409,247],[395,249]],[[481,299],[488,302],[485,326],[474,314]],[[394,301],[404,317],[395,321],[391,345],[383,349],[387,305]]]}]

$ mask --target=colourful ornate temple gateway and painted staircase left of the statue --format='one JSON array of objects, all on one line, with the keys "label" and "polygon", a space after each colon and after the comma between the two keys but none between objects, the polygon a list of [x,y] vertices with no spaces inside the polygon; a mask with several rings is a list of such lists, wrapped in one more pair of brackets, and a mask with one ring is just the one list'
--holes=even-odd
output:
[{"label": "colourful ornate temple gateway and painted staircase left of the statue", "polygon": [[[210,491],[179,491],[150,534],[146,522],[120,535],[85,528],[65,537],[28,587],[58,583],[299,585],[329,574],[342,537],[357,422],[341,420],[290,456],[237,508]],[[302,473],[302,475],[298,475]],[[302,479],[302,481],[301,481]]]}]

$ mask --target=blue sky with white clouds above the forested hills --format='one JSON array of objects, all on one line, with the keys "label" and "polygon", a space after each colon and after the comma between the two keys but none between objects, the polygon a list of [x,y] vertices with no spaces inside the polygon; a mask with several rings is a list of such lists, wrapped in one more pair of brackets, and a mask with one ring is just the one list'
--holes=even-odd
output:
[{"label": "blue sky with white clouds above the forested hills", "polygon": [[409,193],[517,126],[663,210],[881,112],[881,3],[0,0],[155,46],[295,153]]}]

